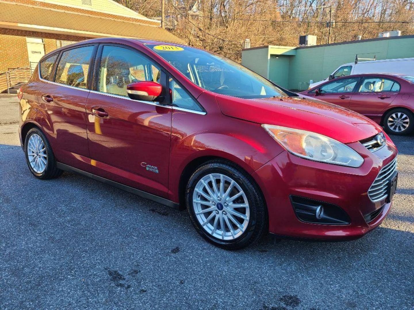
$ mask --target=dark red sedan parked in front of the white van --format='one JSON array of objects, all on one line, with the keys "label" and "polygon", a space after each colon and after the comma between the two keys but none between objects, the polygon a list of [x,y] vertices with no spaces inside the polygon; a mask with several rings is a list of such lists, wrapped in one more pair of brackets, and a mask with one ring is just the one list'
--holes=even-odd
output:
[{"label": "dark red sedan parked in front of the white van", "polygon": [[317,97],[361,113],[389,134],[414,130],[414,77],[401,74],[356,74],[318,85],[301,95]]}]

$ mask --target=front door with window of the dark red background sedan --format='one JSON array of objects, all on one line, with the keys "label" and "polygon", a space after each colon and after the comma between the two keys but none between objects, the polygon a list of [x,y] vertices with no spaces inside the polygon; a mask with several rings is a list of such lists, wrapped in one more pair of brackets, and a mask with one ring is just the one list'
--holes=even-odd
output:
[{"label": "front door with window of the dark red background sedan", "polygon": [[306,95],[349,108],[351,95],[358,82],[358,77],[335,79],[309,91]]}]

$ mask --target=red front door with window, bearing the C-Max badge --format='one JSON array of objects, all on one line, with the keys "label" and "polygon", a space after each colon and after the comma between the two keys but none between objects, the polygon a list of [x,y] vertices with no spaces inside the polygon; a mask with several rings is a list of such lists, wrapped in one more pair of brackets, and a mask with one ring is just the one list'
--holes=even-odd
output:
[{"label": "red front door with window, bearing the C-Max badge", "polygon": [[92,173],[168,197],[171,106],[127,94],[132,82],[164,80],[165,85],[166,75],[137,50],[102,45],[98,55],[96,91],[87,100]]}]

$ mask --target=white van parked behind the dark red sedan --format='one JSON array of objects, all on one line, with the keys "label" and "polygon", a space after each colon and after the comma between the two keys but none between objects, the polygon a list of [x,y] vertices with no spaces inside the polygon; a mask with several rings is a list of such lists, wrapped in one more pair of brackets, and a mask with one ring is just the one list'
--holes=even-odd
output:
[{"label": "white van parked behind the dark red sedan", "polygon": [[357,55],[354,63],[350,62],[349,64],[343,64],[323,81],[309,84],[309,89],[340,76],[366,73],[397,73],[412,76],[414,75],[414,58],[368,60],[358,62]]}]

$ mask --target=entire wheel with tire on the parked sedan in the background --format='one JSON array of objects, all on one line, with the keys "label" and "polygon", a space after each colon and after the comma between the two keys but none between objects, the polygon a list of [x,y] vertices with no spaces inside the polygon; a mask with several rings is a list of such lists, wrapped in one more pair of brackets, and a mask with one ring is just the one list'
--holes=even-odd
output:
[{"label": "entire wheel with tire on the parked sedan in the background", "polygon": [[414,117],[405,109],[395,109],[384,117],[384,128],[388,134],[406,135],[414,129]]}]

